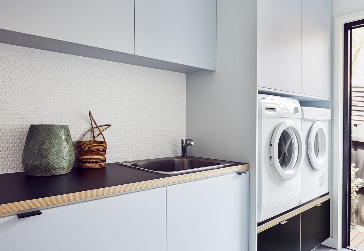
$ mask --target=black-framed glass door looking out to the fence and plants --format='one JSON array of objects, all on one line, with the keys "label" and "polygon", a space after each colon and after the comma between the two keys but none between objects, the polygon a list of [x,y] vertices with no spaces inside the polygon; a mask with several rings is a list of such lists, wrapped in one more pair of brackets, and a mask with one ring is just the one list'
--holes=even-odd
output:
[{"label": "black-framed glass door looking out to the fence and plants", "polygon": [[343,246],[364,250],[364,20],[344,25]]}]

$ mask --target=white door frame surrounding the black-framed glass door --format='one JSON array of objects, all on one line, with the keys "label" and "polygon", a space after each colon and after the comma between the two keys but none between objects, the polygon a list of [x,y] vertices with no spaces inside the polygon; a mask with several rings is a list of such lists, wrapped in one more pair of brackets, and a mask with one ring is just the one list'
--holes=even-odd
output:
[{"label": "white door frame surrounding the black-framed glass door", "polygon": [[[343,209],[348,209],[347,204],[343,203],[343,187],[348,186],[348,177],[344,177],[344,115],[349,116],[349,108],[346,107],[344,113],[344,25],[354,21],[364,19],[364,11],[352,13],[349,15],[335,18],[334,34],[334,64],[332,66],[333,88],[331,100],[331,215],[332,215],[332,233],[331,238],[325,241],[327,246],[339,249],[347,244],[343,242]],[[346,90],[348,94],[348,89]],[[345,125],[345,128],[348,125]],[[351,126],[349,127],[351,130]],[[346,132],[348,135],[348,131]],[[347,136],[345,136],[347,137]],[[351,149],[351,147],[350,147]],[[346,149],[347,151],[347,149]],[[351,152],[350,152],[351,153]],[[348,161],[347,159],[345,161]],[[350,161],[350,160],[349,160]],[[344,179],[345,178],[345,184]],[[346,194],[347,195],[347,194]],[[346,201],[348,201],[346,199]],[[347,214],[348,212],[346,212]],[[347,219],[347,217],[345,217]],[[347,226],[347,222],[344,222]],[[349,222],[350,224],[350,222]],[[345,229],[347,229],[345,227]],[[346,237],[347,238],[347,237]],[[347,240],[347,239],[346,239]]]}]

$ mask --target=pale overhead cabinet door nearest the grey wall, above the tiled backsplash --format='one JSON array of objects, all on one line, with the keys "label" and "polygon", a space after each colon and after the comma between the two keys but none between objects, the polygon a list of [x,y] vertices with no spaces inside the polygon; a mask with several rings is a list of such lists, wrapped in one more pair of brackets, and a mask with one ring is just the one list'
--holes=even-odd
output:
[{"label": "pale overhead cabinet door nearest the grey wall, above the tiled backsplash", "polygon": [[135,55],[215,70],[216,1],[135,0]]}]

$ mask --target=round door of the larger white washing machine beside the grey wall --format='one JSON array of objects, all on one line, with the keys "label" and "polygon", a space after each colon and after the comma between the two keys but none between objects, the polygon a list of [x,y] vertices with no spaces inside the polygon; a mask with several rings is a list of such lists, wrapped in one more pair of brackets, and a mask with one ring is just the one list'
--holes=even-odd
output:
[{"label": "round door of the larger white washing machine beside the grey wall", "polygon": [[281,122],[270,141],[270,162],[283,179],[292,179],[300,171],[305,144],[300,128],[293,121]]}]

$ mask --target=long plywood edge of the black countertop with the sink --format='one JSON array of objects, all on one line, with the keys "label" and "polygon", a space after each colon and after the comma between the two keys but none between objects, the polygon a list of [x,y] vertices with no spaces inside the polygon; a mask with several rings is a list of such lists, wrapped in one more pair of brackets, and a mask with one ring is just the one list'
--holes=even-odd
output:
[{"label": "long plywood edge of the black countertop with the sink", "polygon": [[76,202],[83,199],[97,198],[106,195],[118,194],[138,189],[146,189],[149,187],[163,186],[175,182],[189,181],[192,179],[206,178],[214,175],[231,173],[236,171],[244,171],[249,169],[249,164],[230,166],[225,168],[201,171],[196,173],[182,174],[172,177],[152,179],[149,181],[141,181],[135,183],[129,183],[124,185],[103,187],[94,190],[81,191],[71,194],[62,194],[51,197],[31,199],[28,201],[19,201],[13,203],[7,203],[0,205],[0,216],[2,214],[8,214],[12,212],[19,212],[30,209],[37,209],[40,207],[53,206],[62,203]]}]

